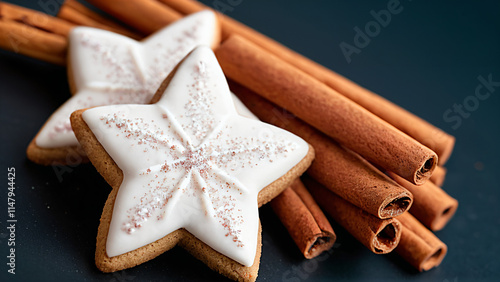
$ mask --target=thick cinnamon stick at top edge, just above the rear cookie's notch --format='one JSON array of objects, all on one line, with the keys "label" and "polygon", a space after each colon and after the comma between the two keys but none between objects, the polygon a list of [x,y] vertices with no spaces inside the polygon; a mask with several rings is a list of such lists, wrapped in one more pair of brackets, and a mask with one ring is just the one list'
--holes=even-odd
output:
[{"label": "thick cinnamon stick at top edge, just above the rear cookie's notch", "polygon": [[182,18],[182,15],[155,0],[87,0],[125,24],[149,35]]}]

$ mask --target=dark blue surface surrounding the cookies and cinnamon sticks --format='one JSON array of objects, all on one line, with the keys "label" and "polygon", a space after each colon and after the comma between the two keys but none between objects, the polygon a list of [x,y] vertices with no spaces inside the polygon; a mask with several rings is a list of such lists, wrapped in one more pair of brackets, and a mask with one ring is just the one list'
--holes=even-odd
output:
[{"label": "dark blue surface surrounding the cookies and cinnamon sticks", "polygon": [[[9,1],[42,10],[50,0]],[[261,208],[263,254],[259,281],[491,281],[500,274],[500,87],[470,104],[461,124],[445,120],[454,105],[474,98],[478,77],[500,82],[499,1],[401,0],[402,10],[351,56],[355,27],[392,1],[206,0],[232,3],[226,14],[254,27],[453,134],[444,189],[460,202],[437,235],[449,252],[440,267],[417,273],[398,256],[375,255],[334,225],[332,252],[306,261],[269,207]],[[94,266],[95,236],[109,192],[91,165],[58,179],[29,162],[25,149],[68,97],[65,69],[0,50],[0,277],[24,280],[219,280],[221,276],[176,248],[133,269],[102,274]],[[472,100],[471,100],[472,99]],[[458,116],[456,114],[453,114]],[[453,127],[456,127],[454,129]],[[17,274],[7,275],[7,168],[16,169]],[[335,167],[332,167],[335,169]]]}]

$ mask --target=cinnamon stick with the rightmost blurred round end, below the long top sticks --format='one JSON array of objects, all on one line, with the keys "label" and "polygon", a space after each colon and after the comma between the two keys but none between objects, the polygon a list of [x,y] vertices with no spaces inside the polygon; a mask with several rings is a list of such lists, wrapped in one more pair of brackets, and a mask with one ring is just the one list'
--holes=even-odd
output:
[{"label": "cinnamon stick with the rightmost blurred round end, below the long top sticks", "polygon": [[410,213],[431,230],[443,229],[457,211],[458,201],[431,181],[415,186],[392,172],[388,174],[413,194]]}]

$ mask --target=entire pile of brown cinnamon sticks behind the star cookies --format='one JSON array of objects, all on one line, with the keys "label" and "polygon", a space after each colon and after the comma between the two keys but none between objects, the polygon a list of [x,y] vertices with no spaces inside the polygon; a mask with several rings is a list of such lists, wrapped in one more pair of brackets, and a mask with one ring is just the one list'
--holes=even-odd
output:
[{"label": "entire pile of brown cinnamon sticks behind the star cookies", "polygon": [[[192,0],[88,2],[123,24],[75,0],[66,0],[57,17],[2,2],[0,47],[64,65],[74,26],[140,39],[208,9]],[[442,229],[458,206],[439,188],[454,137],[257,31],[219,19],[215,53],[231,90],[261,120],[315,148],[303,183],[271,202],[304,256],[336,240],[319,204],[372,252],[395,250],[420,271],[439,265],[447,247],[431,230]]]}]

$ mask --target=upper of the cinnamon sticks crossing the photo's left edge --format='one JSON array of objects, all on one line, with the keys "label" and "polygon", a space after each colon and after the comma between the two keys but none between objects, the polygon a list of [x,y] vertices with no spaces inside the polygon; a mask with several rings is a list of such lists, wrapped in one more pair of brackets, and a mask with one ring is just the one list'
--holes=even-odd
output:
[{"label": "upper of the cinnamon sticks crossing the photo's left edge", "polygon": [[[58,19],[47,14],[16,6],[13,4],[0,2],[0,19],[2,21],[13,21],[26,26],[45,31],[47,33],[58,34],[67,37],[73,24]],[[28,33],[27,31],[24,32]]]}]

